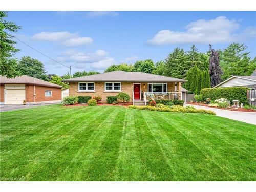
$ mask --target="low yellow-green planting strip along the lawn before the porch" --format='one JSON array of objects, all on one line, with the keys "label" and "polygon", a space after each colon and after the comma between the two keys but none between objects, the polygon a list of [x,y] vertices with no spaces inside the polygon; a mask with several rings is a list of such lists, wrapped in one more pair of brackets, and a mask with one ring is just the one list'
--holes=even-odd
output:
[{"label": "low yellow-green planting strip along the lawn before the porch", "polygon": [[175,105],[172,108],[168,106],[165,107],[157,107],[157,106],[135,106],[130,105],[129,108],[138,109],[138,110],[149,110],[149,111],[161,111],[161,112],[177,112],[177,113],[204,113],[210,115],[216,115],[215,112],[210,110],[203,110],[203,109],[195,109],[193,107],[186,107],[180,105]]}]

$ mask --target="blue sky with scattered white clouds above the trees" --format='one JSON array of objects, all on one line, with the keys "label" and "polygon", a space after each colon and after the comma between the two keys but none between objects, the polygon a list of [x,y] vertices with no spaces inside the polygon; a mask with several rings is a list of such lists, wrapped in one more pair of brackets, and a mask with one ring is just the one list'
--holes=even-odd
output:
[{"label": "blue sky with scattered white clouds above the trees", "polygon": [[[99,71],[118,63],[164,60],[175,47],[200,52],[244,42],[256,56],[256,12],[9,12],[22,29],[15,35],[30,46],[72,66],[76,71]],[[68,69],[18,42],[16,55],[31,56],[48,73]]]}]

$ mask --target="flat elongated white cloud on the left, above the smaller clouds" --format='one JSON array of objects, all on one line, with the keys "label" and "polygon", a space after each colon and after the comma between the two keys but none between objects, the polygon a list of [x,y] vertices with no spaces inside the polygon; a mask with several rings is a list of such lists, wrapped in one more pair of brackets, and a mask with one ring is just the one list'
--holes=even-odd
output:
[{"label": "flat elongated white cloud on the left, above the smaller clouds", "polygon": [[56,41],[66,47],[75,47],[90,44],[93,39],[91,37],[81,37],[78,33],[70,33],[68,31],[60,32],[40,32],[32,36],[33,40]]}]

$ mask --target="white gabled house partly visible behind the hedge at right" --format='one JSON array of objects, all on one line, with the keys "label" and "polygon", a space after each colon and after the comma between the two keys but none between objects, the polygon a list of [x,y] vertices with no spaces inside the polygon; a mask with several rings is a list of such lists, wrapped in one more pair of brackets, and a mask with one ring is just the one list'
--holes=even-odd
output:
[{"label": "white gabled house partly visible behind the hedge at right", "polygon": [[232,76],[215,86],[215,88],[226,87],[248,87],[256,89],[256,70],[250,76]]}]

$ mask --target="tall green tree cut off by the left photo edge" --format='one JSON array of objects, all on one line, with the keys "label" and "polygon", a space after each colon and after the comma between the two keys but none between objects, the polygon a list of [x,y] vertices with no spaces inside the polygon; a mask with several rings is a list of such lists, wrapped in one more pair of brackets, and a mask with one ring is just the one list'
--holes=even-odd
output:
[{"label": "tall green tree cut off by the left photo edge", "polygon": [[20,26],[13,22],[7,22],[4,18],[8,14],[5,11],[0,11],[0,75],[12,78],[18,76],[15,66],[17,61],[13,59],[15,53],[19,50],[14,47],[16,41],[11,33],[16,33]]}]

